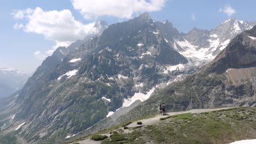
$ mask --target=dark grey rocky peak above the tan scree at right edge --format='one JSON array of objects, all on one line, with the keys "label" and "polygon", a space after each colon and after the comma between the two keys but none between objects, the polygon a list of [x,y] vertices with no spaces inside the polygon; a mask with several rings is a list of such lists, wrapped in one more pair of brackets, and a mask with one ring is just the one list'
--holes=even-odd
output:
[{"label": "dark grey rocky peak above the tan scree at right edge", "polygon": [[229,45],[206,67],[209,73],[222,74],[231,68],[256,66],[256,26],[237,35]]}]

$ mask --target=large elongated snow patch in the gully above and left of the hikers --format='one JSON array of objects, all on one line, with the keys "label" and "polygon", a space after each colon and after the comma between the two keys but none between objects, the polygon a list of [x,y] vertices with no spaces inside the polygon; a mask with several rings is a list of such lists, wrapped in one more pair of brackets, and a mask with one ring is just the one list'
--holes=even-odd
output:
[{"label": "large elongated snow patch in the gully above and left of the hikers", "polygon": [[124,99],[123,106],[122,107],[128,107],[132,103],[134,103],[136,100],[145,101],[147,100],[150,95],[155,91],[155,87],[150,89],[150,91],[147,92],[147,94],[144,93],[135,93],[131,98]]}]

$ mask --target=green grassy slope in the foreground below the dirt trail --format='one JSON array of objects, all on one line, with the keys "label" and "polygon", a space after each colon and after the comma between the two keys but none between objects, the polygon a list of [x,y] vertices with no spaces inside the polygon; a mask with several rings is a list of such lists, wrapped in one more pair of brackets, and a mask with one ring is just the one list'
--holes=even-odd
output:
[{"label": "green grassy slope in the foreground below the dirt trail", "polygon": [[[96,134],[106,134],[120,128],[121,125],[117,125]],[[229,143],[256,139],[256,108],[185,113],[133,129],[128,134],[113,133],[101,143]]]}]

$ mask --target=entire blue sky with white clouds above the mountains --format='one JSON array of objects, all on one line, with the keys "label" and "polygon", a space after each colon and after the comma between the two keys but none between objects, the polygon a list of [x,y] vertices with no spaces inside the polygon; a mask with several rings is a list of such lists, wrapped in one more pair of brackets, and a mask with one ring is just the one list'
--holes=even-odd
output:
[{"label": "entire blue sky with white clouds above the mountains", "polygon": [[180,32],[215,28],[226,19],[256,21],[254,0],[8,0],[0,2],[0,68],[32,73],[58,46],[109,25],[148,12],[153,20],[172,22]]}]

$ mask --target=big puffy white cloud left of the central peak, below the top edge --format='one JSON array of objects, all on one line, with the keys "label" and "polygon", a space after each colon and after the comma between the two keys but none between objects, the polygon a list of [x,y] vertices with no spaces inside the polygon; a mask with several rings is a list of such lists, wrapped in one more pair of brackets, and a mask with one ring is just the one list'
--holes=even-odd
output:
[{"label": "big puffy white cloud left of the central peak, below the top edge", "polygon": [[75,40],[98,32],[98,29],[94,27],[95,22],[84,25],[75,20],[71,11],[67,9],[44,11],[37,7],[36,9],[14,10],[12,15],[15,19],[27,21],[26,25],[16,23],[14,29],[22,28],[27,33],[42,34],[46,40],[55,42],[53,49],[34,53],[39,59],[51,55],[59,46],[68,46]]}]

